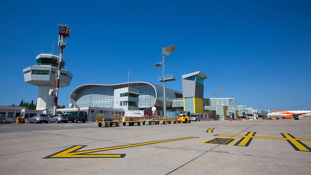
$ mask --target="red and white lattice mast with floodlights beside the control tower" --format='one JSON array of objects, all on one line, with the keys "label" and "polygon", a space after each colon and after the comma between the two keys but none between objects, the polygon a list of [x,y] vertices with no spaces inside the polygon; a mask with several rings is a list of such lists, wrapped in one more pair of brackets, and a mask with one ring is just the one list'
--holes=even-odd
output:
[{"label": "red and white lattice mast with floodlights beside the control tower", "polygon": [[54,94],[54,106],[53,106],[53,115],[56,114],[56,109],[57,109],[57,99],[58,99],[58,89],[59,89],[59,78],[60,78],[60,70],[61,70],[61,65],[62,65],[62,58],[63,58],[63,48],[66,47],[66,38],[70,38],[70,32],[72,30],[70,29],[70,27],[68,27],[68,25],[58,25],[58,63],[57,63],[57,75],[55,77],[55,82],[54,83],[54,87],[53,87],[53,94]]}]

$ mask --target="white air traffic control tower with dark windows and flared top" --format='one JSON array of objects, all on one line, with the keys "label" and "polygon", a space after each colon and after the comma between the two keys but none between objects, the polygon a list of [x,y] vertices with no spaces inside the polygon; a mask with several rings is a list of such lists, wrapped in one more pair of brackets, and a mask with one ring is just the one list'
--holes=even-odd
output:
[{"label": "white air traffic control tower with dark windows and flared top", "polygon": [[[53,96],[49,95],[50,89],[55,86],[57,76],[58,55],[41,53],[36,56],[37,64],[23,69],[25,82],[39,86],[36,110],[52,109]],[[72,74],[63,69],[66,61],[62,59],[59,87],[70,85]]]}]

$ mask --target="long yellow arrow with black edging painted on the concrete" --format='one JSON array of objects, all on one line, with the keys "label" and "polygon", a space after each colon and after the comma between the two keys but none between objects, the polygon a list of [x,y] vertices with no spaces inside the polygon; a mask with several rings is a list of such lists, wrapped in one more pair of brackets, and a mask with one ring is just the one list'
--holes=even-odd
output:
[{"label": "long yellow arrow with black edging painted on the concrete", "polygon": [[45,158],[123,158],[125,157],[125,154],[87,154],[87,153],[107,151],[107,150],[112,150],[112,149],[129,148],[129,147],[141,146],[141,145],[146,145],[146,144],[171,142],[171,141],[176,141],[176,140],[194,139],[194,138],[197,138],[197,137],[186,137],[186,138],[180,138],[180,139],[161,140],[161,141],[146,142],[146,143],[140,143],[140,144],[115,146],[115,147],[109,147],[109,148],[91,149],[91,150],[86,150],[86,151],[78,151],[78,150],[86,147],[87,145],[76,145],[68,149],[64,149],[58,153],[49,155]]}]

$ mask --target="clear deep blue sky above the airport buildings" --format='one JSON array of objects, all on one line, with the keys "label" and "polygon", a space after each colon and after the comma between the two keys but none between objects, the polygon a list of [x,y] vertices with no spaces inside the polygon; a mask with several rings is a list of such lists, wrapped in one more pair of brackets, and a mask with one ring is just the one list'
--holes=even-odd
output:
[{"label": "clear deep blue sky above the airport buildings", "polygon": [[[201,71],[204,98],[236,95],[240,105],[261,110],[311,110],[310,1],[2,1],[0,57],[2,106],[37,101],[39,87],[22,69],[41,52],[57,53],[58,24],[72,28],[63,51],[73,74],[58,104],[83,84],[130,80],[162,86],[166,74],[182,91],[183,74]],[[55,47],[56,46],[56,47]]]}]

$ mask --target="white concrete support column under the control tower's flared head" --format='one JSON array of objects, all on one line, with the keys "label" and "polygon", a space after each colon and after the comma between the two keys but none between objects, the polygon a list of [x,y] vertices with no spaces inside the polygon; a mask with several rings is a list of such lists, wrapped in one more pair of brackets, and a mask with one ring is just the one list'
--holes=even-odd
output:
[{"label": "white concrete support column under the control tower's flared head", "polygon": [[36,110],[50,109],[52,107],[53,96],[49,95],[50,89],[53,89],[53,86],[40,86],[39,87]]}]

